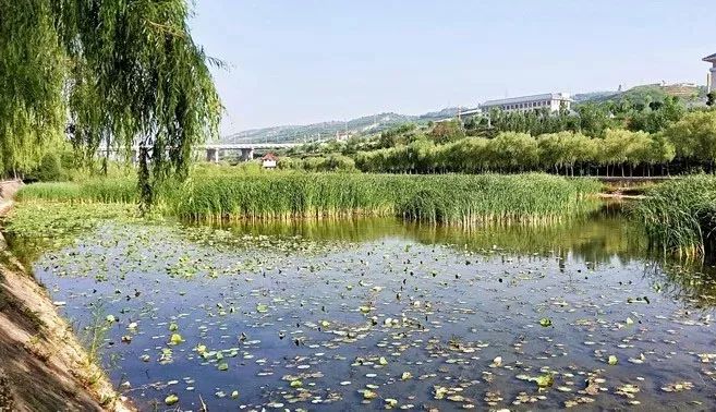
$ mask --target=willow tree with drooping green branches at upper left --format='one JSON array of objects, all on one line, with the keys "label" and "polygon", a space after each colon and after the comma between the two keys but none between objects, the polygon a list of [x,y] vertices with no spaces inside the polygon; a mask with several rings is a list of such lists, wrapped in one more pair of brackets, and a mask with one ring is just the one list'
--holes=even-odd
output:
[{"label": "willow tree with drooping green branches at upper left", "polygon": [[138,147],[144,205],[192,146],[216,135],[221,105],[186,0],[0,0],[0,166],[52,144]]}]

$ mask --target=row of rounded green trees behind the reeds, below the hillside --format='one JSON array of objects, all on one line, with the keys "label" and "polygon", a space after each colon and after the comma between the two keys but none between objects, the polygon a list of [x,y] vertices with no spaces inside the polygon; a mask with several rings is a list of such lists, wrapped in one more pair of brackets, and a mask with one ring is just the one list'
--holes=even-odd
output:
[{"label": "row of rounded green trees behind the reeds, below the hillside", "polygon": [[580,132],[502,132],[495,138],[465,137],[438,145],[428,138],[408,145],[361,152],[355,165],[367,172],[520,172],[607,175],[667,173],[678,159],[713,169],[716,160],[716,111],[695,111],[660,133],[607,129],[600,137]]}]

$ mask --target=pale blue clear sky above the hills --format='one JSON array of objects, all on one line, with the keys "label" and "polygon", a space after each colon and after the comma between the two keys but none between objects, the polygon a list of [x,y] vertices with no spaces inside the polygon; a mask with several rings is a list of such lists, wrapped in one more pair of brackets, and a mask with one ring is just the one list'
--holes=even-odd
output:
[{"label": "pale blue clear sky above the hills", "polygon": [[705,84],[713,0],[195,0],[221,133],[530,94]]}]

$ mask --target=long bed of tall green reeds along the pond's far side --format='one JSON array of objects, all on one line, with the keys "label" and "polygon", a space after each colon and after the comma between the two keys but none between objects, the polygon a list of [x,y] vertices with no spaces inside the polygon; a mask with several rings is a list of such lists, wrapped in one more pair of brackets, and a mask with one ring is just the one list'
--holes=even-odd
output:
[{"label": "long bed of tall green reeds along the pond's far side", "polygon": [[[446,225],[547,222],[583,209],[600,189],[548,174],[396,175],[274,172],[193,175],[159,194],[162,213],[187,220],[398,216]],[[39,183],[19,198],[135,203],[132,179]]]}]

